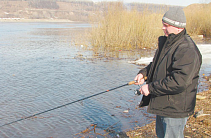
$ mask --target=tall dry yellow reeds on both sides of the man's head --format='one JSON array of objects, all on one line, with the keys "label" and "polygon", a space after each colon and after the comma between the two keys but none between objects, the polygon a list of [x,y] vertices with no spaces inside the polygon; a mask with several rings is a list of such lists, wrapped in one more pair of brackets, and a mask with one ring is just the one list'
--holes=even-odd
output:
[{"label": "tall dry yellow reeds on both sides of the man's head", "polygon": [[[184,8],[189,35],[211,36],[211,4],[191,5]],[[193,9],[194,10],[193,12]],[[100,51],[154,49],[157,38],[163,35],[162,16],[164,11],[148,9],[128,10],[121,2],[113,3],[101,14],[99,23],[93,24],[90,33],[91,45]]]}]

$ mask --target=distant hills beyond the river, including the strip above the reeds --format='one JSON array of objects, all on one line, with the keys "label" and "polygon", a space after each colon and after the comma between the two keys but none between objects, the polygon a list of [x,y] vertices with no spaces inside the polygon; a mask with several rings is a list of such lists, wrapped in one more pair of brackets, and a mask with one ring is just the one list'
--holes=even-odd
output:
[{"label": "distant hills beyond the river, including the strip above the reeds", "polygon": [[[68,19],[71,21],[99,21],[116,2],[90,0],[0,0],[0,18]],[[125,10],[142,12],[166,11],[168,5],[124,3]],[[93,17],[94,16],[94,17]]]}]

